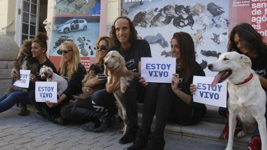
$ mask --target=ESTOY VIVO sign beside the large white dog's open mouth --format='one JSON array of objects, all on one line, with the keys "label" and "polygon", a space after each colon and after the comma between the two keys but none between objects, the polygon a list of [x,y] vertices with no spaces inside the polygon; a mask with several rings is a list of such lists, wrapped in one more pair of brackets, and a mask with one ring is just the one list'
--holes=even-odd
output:
[{"label": "ESTOY VIVO sign beside the large white dog's open mouth", "polygon": [[226,108],[227,82],[218,83],[211,88],[213,80],[214,77],[194,76],[193,84],[196,85],[196,91],[193,101]]}]

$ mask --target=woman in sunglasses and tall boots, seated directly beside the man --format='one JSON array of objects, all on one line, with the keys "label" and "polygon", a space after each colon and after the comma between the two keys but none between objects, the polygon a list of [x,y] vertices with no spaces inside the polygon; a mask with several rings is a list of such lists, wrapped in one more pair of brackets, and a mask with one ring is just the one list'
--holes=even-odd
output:
[{"label": "woman in sunglasses and tall boots, seated directly beside the man", "polygon": [[[111,38],[107,36],[102,36],[98,38],[96,42],[96,63],[103,64],[104,57],[107,54],[107,49],[111,47]],[[105,84],[107,77],[102,73],[98,74],[95,78],[89,79],[83,85],[82,90],[85,94],[93,94],[95,91],[92,87],[100,84]],[[103,86],[105,87],[105,86]],[[97,122],[88,122],[82,125],[82,128],[88,131],[93,132],[102,132],[106,131],[107,125],[109,122],[108,113],[96,111],[92,105],[91,99],[79,100],[78,102],[69,103],[64,106],[61,111],[61,115],[73,121],[92,121],[96,120]]]}]

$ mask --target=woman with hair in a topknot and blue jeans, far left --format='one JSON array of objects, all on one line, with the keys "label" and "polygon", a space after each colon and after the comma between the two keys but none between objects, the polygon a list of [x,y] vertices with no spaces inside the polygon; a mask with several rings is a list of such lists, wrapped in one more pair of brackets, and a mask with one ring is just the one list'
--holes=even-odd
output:
[{"label": "woman with hair in a topknot and blue jeans, far left", "polygon": [[[32,57],[36,58],[39,62],[39,67],[37,69],[37,72],[34,74],[29,74],[29,88],[28,91],[34,90],[35,88],[35,81],[42,81],[41,76],[39,75],[40,68],[42,65],[47,65],[53,69],[54,72],[56,72],[56,68],[53,65],[52,62],[46,57],[46,51],[47,51],[47,41],[48,38],[46,34],[39,32],[36,37],[32,40],[30,40],[31,44],[31,52]],[[26,41],[25,41],[26,42]],[[28,41],[29,42],[29,41]],[[12,77],[17,77],[19,75],[19,70],[16,70],[15,68],[11,71]],[[29,92],[30,93],[30,92]],[[2,98],[0,98],[0,112],[4,112],[15,105],[15,103],[24,103],[24,104],[31,104],[28,94],[23,92],[12,92],[10,95],[4,95]],[[26,110],[27,111],[27,110]],[[26,114],[29,112],[27,111]]]}]

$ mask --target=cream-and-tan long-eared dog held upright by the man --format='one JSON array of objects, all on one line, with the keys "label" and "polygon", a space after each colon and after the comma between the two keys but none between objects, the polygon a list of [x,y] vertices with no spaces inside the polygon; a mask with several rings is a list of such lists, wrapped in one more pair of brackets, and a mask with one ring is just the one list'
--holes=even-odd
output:
[{"label": "cream-and-tan long-eared dog held upright by the man", "polygon": [[[127,68],[125,67],[124,58],[117,51],[110,51],[105,57],[104,64],[105,64],[104,74],[107,76],[108,80],[107,82],[113,80],[113,78],[116,78],[114,74],[119,74],[120,72],[127,70]],[[112,73],[110,71],[112,71]],[[130,85],[129,82],[132,80],[132,77],[120,76],[119,78],[120,78],[120,88],[116,92],[113,92],[113,95],[117,100],[118,112],[120,117],[123,119],[124,123],[124,127],[121,131],[122,132],[121,137],[123,137],[127,130],[127,115],[126,115],[126,104],[124,102],[122,94],[126,92],[127,87]]]}]

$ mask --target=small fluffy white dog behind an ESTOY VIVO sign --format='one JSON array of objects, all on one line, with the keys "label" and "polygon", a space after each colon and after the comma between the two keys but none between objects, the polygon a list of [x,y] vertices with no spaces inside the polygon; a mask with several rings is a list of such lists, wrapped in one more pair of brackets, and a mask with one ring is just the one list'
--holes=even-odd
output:
[{"label": "small fluffy white dog behind an ESTOY VIVO sign", "polygon": [[62,93],[67,89],[68,82],[62,76],[57,75],[53,72],[52,68],[43,65],[40,69],[40,76],[42,79],[46,79],[46,81],[55,81],[57,82],[57,93],[62,95]]}]

